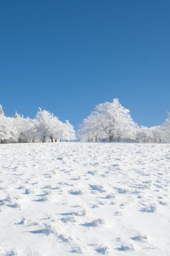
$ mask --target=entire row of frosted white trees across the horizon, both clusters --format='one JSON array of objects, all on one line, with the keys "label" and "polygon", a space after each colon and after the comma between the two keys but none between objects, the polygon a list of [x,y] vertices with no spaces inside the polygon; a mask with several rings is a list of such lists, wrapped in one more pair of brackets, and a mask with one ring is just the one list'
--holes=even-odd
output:
[{"label": "entire row of frosted white trees across the horizon, both clusters", "polygon": [[61,122],[47,110],[38,109],[34,119],[16,112],[6,117],[0,105],[0,143],[26,142],[135,142],[170,143],[170,113],[162,125],[138,125],[118,99],[95,106],[75,132],[69,120]]}]

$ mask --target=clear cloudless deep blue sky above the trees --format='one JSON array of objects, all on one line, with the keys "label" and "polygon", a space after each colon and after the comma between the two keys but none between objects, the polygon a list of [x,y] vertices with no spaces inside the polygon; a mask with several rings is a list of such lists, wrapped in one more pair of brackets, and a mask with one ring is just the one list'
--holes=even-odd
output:
[{"label": "clear cloudless deep blue sky above the trees", "polygon": [[170,111],[169,0],[1,0],[0,104],[75,126],[120,99],[135,122]]}]

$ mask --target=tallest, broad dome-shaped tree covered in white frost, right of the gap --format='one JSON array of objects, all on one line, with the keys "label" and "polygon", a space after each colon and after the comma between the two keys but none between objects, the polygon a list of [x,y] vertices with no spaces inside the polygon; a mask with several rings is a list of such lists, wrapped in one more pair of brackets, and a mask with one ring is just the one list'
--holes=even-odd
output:
[{"label": "tallest, broad dome-shaped tree covered in white frost, right of the gap", "polygon": [[125,109],[114,99],[111,103],[102,103],[95,106],[91,115],[84,119],[77,132],[77,136],[84,140],[95,137],[95,141],[108,138],[109,142],[120,141],[122,138],[135,139],[135,129],[138,127]]}]

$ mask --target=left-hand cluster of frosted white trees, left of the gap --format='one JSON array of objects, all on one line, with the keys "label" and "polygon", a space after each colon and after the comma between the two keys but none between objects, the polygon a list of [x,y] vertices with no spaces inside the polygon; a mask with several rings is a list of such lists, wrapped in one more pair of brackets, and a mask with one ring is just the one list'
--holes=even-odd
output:
[{"label": "left-hand cluster of frosted white trees, left of the gap", "polygon": [[57,142],[75,138],[69,120],[63,123],[47,110],[39,108],[34,119],[24,118],[17,112],[11,118],[4,115],[0,105],[0,143]]}]

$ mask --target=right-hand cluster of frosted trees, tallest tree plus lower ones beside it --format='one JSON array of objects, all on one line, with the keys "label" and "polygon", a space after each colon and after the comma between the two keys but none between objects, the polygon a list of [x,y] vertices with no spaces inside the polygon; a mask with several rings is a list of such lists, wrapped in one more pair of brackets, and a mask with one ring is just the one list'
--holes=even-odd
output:
[{"label": "right-hand cluster of frosted trees, tallest tree plus lower ones beside it", "polygon": [[162,125],[139,126],[118,99],[95,106],[77,131],[79,141],[170,143],[170,114]]}]

